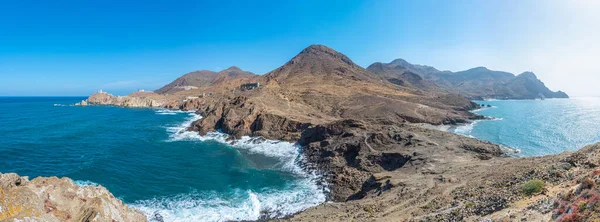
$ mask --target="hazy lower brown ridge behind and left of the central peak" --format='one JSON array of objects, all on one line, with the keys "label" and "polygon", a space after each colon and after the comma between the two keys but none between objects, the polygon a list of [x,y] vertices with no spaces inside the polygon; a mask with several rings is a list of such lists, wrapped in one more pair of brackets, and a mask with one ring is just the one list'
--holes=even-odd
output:
[{"label": "hazy lower brown ridge behind and left of the central peak", "polygon": [[174,93],[182,90],[210,86],[216,82],[224,81],[226,79],[248,78],[253,76],[255,76],[254,73],[241,70],[236,66],[229,67],[228,69],[220,72],[201,70],[185,74],[166,86],[156,90],[155,92],[158,94]]}]

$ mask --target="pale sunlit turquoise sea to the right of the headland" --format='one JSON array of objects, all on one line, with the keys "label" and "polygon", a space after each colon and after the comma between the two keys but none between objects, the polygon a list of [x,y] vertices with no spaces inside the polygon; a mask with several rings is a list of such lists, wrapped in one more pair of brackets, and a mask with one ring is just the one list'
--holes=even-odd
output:
[{"label": "pale sunlit turquoise sea to the right of the headland", "polygon": [[453,131],[520,150],[519,156],[574,151],[600,142],[600,98],[475,101],[491,105],[476,121]]}]

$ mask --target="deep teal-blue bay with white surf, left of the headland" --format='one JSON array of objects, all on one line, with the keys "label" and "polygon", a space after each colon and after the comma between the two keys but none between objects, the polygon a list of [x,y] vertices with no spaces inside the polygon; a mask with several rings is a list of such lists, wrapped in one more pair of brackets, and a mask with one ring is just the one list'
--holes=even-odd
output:
[{"label": "deep teal-blue bay with white surf, left of the headland", "polygon": [[0,172],[100,184],[164,221],[281,217],[325,201],[294,144],[200,137],[184,130],[194,113],[68,106],[81,99],[0,97]]}]

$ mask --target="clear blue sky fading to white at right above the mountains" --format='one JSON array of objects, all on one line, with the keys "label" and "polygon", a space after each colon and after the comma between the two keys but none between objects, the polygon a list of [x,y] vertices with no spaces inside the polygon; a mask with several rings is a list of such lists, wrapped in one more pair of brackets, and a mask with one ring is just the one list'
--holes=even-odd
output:
[{"label": "clear blue sky fading to white at right above the mountains", "polygon": [[2,1],[0,95],[127,94],[232,65],[264,74],[324,44],[363,67],[533,71],[600,96],[599,27],[596,0]]}]

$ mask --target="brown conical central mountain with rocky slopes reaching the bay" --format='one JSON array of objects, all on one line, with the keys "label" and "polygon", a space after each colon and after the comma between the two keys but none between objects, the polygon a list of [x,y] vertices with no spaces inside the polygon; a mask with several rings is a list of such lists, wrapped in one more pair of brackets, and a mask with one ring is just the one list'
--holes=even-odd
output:
[{"label": "brown conical central mountain with rocky slopes reaching the bay", "polygon": [[[468,112],[477,104],[464,97],[388,83],[345,55],[320,45],[310,46],[285,65],[246,81],[262,86],[233,93],[231,87],[236,86],[230,82],[206,88],[215,93],[196,102],[206,105],[197,107],[204,118],[193,128],[201,133],[222,129],[234,136],[295,140],[309,126],[342,119],[439,125],[481,118]],[[180,108],[190,107],[182,104]]]}]

